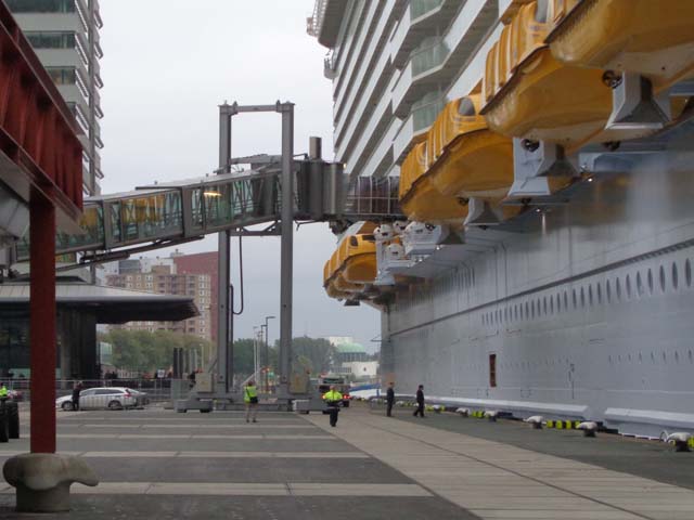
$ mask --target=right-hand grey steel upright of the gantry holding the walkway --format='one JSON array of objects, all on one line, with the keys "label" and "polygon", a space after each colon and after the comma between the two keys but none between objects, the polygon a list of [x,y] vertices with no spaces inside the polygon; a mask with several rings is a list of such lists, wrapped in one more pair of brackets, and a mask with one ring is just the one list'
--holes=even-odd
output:
[{"label": "right-hand grey steel upright of the gantry holding the walkway", "polygon": [[280,266],[280,381],[292,374],[292,277],[294,263],[294,103],[278,103],[282,114],[282,250]]}]

